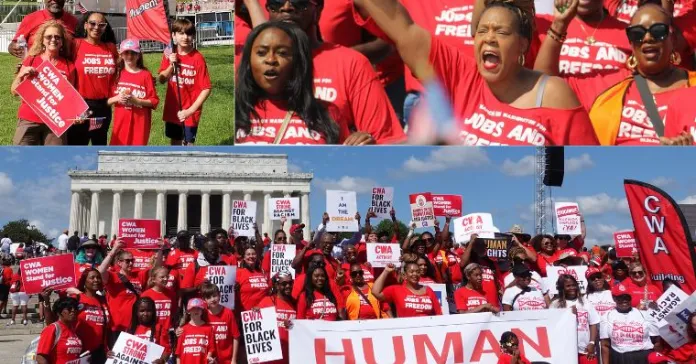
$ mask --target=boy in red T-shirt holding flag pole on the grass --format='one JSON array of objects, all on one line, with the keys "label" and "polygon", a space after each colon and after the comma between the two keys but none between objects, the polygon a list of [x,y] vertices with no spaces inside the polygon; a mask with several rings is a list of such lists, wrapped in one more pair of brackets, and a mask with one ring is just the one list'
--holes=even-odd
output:
[{"label": "boy in red T-shirt holding flag pole on the grass", "polygon": [[[176,52],[162,58],[159,82],[167,82],[162,119],[172,145],[194,144],[203,103],[210,96],[210,75],[203,55],[193,48],[196,28],[188,19],[172,23]],[[174,75],[174,64],[178,75]],[[178,78],[178,83],[177,83]],[[182,124],[183,130],[182,130]]]}]

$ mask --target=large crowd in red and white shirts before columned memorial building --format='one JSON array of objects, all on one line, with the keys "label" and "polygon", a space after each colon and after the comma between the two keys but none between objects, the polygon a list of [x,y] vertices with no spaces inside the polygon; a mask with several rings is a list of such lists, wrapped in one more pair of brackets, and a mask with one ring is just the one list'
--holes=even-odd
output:
[{"label": "large crowd in red and white shirts before columned memorial building", "polygon": [[[497,236],[510,241],[507,257],[490,258],[485,241],[476,235],[463,244],[453,241],[450,217],[442,228],[437,222],[433,232],[417,233],[411,223],[405,236],[394,210],[392,231],[377,232],[374,218],[369,210],[365,219],[356,214],[360,231],[340,240],[326,230],[326,213],[311,232],[311,241],[303,239],[305,224],[288,226],[285,219],[272,236],[262,237],[256,226],[252,238],[236,236],[231,229],[205,236],[180,231],[161,240],[158,250],[124,249],[114,238],[107,252],[97,241],[86,240],[73,253],[77,287],[58,292],[54,302],[50,289],[40,295],[46,327],[38,356],[42,363],[64,363],[90,351],[92,363],[103,363],[120,333],[127,332],[163,346],[158,363],[174,357],[182,364],[213,359],[246,363],[241,312],[275,307],[283,351],[277,363],[287,363],[295,319],[378,320],[445,311],[498,314],[572,308],[580,363],[660,363],[653,361],[658,354],[679,363],[696,360],[696,314],[689,318],[689,343],[677,350],[660,339],[648,314],[663,291],[679,284],[649,281],[637,254],[617,258],[610,246],[585,248],[584,220],[583,234],[575,237],[532,237],[515,225]],[[370,265],[366,244],[378,242],[401,245],[400,267]],[[290,263],[294,278],[289,272],[270,275],[272,244],[296,246]],[[208,268],[216,265],[237,267],[233,310],[221,305],[218,287],[206,279]],[[576,265],[588,267],[587,287],[571,274],[547,281],[550,267]],[[432,283],[447,287],[442,305]],[[13,286],[12,292],[21,292],[21,286]],[[25,305],[26,299],[15,297],[15,306]],[[54,345],[56,330],[67,341]],[[528,363],[511,334],[501,338],[499,363]],[[208,340],[186,340],[189,336]]]}]

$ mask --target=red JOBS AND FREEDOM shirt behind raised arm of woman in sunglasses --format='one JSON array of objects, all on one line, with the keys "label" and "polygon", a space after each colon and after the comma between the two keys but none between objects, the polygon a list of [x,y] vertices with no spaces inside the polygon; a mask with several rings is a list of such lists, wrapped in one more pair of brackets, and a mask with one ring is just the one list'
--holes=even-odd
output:
[{"label": "red JOBS AND FREEDOM shirt behind raised arm of woman in sunglasses", "polygon": [[[553,15],[537,15],[536,27],[541,42],[551,27]],[[595,39],[587,44],[588,36]],[[574,18],[568,26],[568,35],[561,47],[558,62],[560,74],[595,74],[597,70],[625,68],[631,55],[626,38],[626,24],[607,16],[601,23],[589,25]]]}]

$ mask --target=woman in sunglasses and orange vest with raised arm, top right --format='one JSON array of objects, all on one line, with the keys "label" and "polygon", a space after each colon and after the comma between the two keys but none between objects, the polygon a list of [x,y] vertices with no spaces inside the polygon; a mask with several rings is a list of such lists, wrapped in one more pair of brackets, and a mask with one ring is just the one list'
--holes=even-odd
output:
[{"label": "woman in sunglasses and orange vest with raised arm, top right", "polygon": [[[568,9],[555,11],[550,36],[539,50],[535,69],[556,75],[559,55],[568,25],[578,2],[567,2]],[[683,108],[682,93],[696,85],[696,72],[678,67],[681,56],[675,49],[674,19],[661,6],[645,4],[626,28],[632,47],[627,69],[604,72],[591,77],[566,77],[580,98],[602,145],[692,145],[693,136],[687,125],[664,121],[664,132],[658,135],[653,126],[650,107],[646,107],[639,82],[645,82],[653,95],[655,112],[661,119],[672,107]],[[638,77],[640,76],[640,77]],[[690,125],[688,125],[690,126]],[[686,130],[685,130],[686,129]]]}]

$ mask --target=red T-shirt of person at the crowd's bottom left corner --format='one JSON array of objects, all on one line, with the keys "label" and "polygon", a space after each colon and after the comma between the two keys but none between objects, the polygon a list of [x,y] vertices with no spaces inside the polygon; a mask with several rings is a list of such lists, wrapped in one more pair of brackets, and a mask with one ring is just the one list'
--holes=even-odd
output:
[{"label": "red T-shirt of person at the crowd's bottom left corner", "polygon": [[[56,341],[56,326],[60,327],[60,336]],[[36,354],[48,359],[49,363],[67,363],[76,360],[82,353],[82,340],[77,336],[75,330],[60,321],[46,326],[41,331],[39,344],[36,347]]]}]

